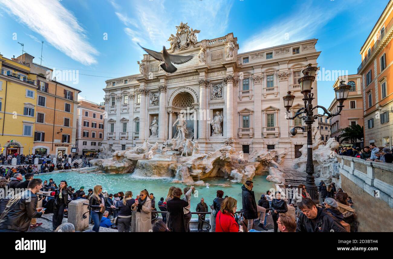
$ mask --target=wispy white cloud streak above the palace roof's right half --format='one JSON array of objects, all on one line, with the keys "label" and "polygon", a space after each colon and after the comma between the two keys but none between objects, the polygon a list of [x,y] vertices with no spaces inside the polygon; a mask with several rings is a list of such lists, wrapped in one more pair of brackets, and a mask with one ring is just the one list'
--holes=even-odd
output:
[{"label": "wispy white cloud streak above the palace roof's right half", "polygon": [[332,10],[321,10],[316,7],[302,8],[301,14],[294,13],[285,20],[272,21],[270,26],[246,39],[239,52],[310,39],[317,30],[341,11],[340,6],[335,6]]}]

